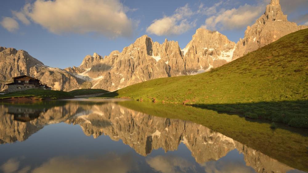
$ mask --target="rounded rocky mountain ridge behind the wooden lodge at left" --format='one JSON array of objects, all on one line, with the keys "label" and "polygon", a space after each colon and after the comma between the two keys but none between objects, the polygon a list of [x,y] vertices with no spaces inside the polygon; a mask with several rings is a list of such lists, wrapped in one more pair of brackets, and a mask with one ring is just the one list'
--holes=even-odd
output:
[{"label": "rounded rocky mountain ridge behind the wooden lodge at left", "polygon": [[0,90],[12,77],[20,75],[34,75],[48,86],[64,91],[79,88],[84,82],[66,70],[45,66],[24,50],[0,47]]}]

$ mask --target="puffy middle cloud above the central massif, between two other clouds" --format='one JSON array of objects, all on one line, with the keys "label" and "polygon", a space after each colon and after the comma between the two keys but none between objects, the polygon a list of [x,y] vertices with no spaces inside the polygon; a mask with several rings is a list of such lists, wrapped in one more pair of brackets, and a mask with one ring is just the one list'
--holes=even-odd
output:
[{"label": "puffy middle cloud above the central massif, between two other clouds", "polygon": [[147,28],[147,32],[158,36],[184,33],[195,25],[195,22],[189,22],[187,19],[192,15],[193,11],[186,4],[176,9],[172,16],[164,16],[164,18],[153,21]]}]

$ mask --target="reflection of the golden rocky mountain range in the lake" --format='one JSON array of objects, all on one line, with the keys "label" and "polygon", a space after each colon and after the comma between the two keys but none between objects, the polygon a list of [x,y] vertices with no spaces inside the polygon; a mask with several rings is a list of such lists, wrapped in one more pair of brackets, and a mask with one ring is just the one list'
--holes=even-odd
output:
[{"label": "reflection of the golden rocky mountain range in the lake", "polygon": [[[184,144],[199,164],[219,160],[230,151],[244,154],[247,166],[258,173],[286,172],[288,167],[267,155],[245,146],[221,133],[190,121],[150,116],[115,103],[64,105],[40,109],[37,119],[21,122],[16,119],[20,106],[0,107],[0,142],[24,141],[47,124],[66,122],[79,124],[87,136],[107,135],[111,140],[122,140],[140,155],[163,148],[165,152],[177,150]],[[37,111],[37,110],[36,110]],[[20,117],[19,117],[20,118]]]}]

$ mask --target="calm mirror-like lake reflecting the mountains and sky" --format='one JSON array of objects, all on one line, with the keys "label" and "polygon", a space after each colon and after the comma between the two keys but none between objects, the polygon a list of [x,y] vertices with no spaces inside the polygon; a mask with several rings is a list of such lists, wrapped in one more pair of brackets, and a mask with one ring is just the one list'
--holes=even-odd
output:
[{"label": "calm mirror-like lake reflecting the mountains and sky", "polygon": [[[274,159],[258,151],[262,147],[253,149],[191,121],[164,118],[168,117],[168,111],[176,112],[182,105],[161,104],[159,108],[157,105],[64,101],[0,104],[0,171],[218,173],[302,172],[295,168],[307,168],[307,151],[302,149],[307,144],[305,135],[284,130],[284,135],[290,133],[298,146],[287,146],[295,153],[290,155],[294,162],[278,161],[280,157]],[[188,109],[211,117],[223,116],[185,107]],[[144,113],[147,111],[148,114]],[[153,116],[156,114],[160,117]],[[260,134],[267,131],[273,136],[281,133],[266,129]],[[245,141],[241,135],[238,139]],[[267,154],[271,154],[275,149],[268,150]]]}]

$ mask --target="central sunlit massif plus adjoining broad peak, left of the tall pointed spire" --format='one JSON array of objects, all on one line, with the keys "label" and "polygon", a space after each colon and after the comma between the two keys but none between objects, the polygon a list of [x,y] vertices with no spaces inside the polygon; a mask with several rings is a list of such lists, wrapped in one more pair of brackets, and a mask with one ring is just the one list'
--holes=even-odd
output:
[{"label": "central sunlit massif plus adjoining broad peak, left of the tall pointed spire", "polygon": [[[122,52],[102,57],[87,55],[78,68],[67,68],[76,77],[90,77],[92,87],[114,91],[161,77],[193,75],[232,60],[235,43],[218,32],[197,29],[185,49],[167,39],[160,44],[144,35]],[[82,73],[80,70],[84,70]]]}]

